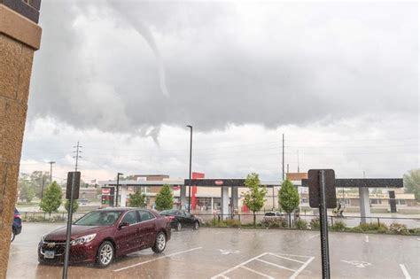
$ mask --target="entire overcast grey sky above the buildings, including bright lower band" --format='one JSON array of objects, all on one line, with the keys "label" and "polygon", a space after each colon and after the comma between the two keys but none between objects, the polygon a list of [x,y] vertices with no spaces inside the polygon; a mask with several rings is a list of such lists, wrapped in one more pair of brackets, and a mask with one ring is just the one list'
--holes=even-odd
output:
[{"label": "entire overcast grey sky above the buildings, including bright lower band", "polygon": [[416,2],[43,0],[21,172],[278,180],[419,167]]}]

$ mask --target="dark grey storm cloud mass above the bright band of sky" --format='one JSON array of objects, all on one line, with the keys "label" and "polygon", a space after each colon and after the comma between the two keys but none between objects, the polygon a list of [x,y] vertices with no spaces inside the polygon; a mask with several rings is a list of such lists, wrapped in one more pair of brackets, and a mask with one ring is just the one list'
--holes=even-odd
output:
[{"label": "dark grey storm cloud mass above the bright band of sky", "polygon": [[32,119],[156,137],[418,113],[416,4],[95,3],[43,1]]}]

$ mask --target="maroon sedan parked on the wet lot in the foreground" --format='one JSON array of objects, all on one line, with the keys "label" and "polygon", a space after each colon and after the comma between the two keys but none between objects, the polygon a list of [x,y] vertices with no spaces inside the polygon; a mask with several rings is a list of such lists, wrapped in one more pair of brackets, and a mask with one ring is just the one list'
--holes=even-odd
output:
[{"label": "maroon sedan parked on the wet lot in the foreground", "polygon": [[[163,252],[171,225],[159,213],[139,208],[106,208],[84,215],[72,226],[70,262],[96,262],[107,267],[115,257],[142,249]],[[64,262],[66,227],[43,236],[38,244],[40,263]]]}]

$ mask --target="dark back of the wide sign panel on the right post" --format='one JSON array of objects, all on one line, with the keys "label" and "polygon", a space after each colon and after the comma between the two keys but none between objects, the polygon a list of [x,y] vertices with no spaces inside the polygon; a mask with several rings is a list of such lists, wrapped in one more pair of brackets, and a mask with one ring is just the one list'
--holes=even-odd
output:
[{"label": "dark back of the wide sign panel on the right post", "polygon": [[[309,205],[318,208],[321,204],[320,187],[321,187],[321,169],[310,169],[307,172],[307,184],[309,186]],[[325,205],[327,208],[337,207],[336,187],[335,187],[335,173],[333,169],[324,169],[325,182]]]}]

